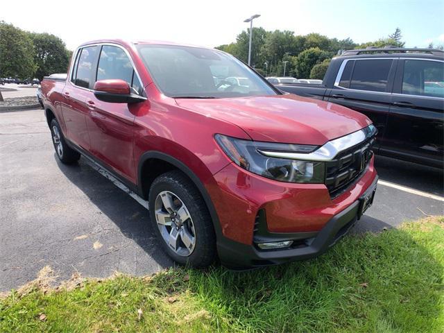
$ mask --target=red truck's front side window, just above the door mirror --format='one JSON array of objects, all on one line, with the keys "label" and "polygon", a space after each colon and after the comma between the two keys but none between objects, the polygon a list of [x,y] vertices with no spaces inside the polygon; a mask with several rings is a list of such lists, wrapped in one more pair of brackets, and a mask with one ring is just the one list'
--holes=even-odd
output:
[{"label": "red truck's front side window, just above the door mirror", "polygon": [[125,51],[117,46],[104,45],[100,53],[99,66],[97,67],[97,80],[109,80],[112,78],[126,81],[137,94],[141,92],[142,85]]}]

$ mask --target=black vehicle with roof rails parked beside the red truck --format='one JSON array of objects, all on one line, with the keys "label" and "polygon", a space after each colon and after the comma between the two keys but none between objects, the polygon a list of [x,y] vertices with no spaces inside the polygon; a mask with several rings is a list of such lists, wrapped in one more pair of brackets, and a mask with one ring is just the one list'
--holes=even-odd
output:
[{"label": "black vehicle with roof rails parked beside the red truck", "polygon": [[366,114],[379,131],[375,153],[443,168],[444,51],[344,51],[322,84],[276,87]]}]

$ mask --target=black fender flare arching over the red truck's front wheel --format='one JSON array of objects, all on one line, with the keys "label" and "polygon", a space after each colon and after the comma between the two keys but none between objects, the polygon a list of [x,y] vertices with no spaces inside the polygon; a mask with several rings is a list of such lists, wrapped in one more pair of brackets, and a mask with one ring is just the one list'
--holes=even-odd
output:
[{"label": "black fender flare arching over the red truck's front wheel", "polygon": [[176,167],[178,170],[185,173],[185,175],[191,180],[191,182],[194,183],[196,188],[198,189],[200,195],[202,196],[205,205],[207,205],[208,211],[210,212],[210,216],[212,219],[212,223],[214,226],[214,232],[216,232],[216,239],[220,239],[222,236],[222,230],[221,230],[221,223],[219,223],[219,216],[217,215],[216,209],[214,208],[214,205],[212,203],[212,200],[210,198],[210,194],[208,194],[207,189],[203,185],[203,182],[200,181],[198,176],[187,167],[183,162],[176,159],[175,157],[162,153],[160,151],[147,151],[143,153],[139,158],[139,164],[137,165],[137,189],[139,191],[139,194],[144,197],[143,189],[142,189],[142,167],[144,165],[144,162],[151,159],[157,159],[157,160],[163,160],[164,162],[168,162],[169,164],[172,164],[174,167]]}]

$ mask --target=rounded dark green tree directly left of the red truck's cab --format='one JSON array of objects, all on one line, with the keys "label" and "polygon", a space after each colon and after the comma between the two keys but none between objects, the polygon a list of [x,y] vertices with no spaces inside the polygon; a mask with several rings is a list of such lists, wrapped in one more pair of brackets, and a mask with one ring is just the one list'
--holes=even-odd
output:
[{"label": "rounded dark green tree directly left of the red truck's cab", "polygon": [[54,73],[66,73],[69,65],[65,43],[49,33],[31,33],[34,44],[34,62],[37,65],[35,76],[42,80]]}]

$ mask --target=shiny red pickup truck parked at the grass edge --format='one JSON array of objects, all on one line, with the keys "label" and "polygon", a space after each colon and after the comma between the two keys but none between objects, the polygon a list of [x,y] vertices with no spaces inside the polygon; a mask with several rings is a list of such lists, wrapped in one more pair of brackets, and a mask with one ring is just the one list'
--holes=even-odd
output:
[{"label": "shiny red pickup truck parked at the grass edge", "polygon": [[148,200],[180,264],[315,257],[373,202],[371,121],[282,93],[222,51],[88,42],[66,78],[43,80],[42,103],[60,161],[85,155]]}]

